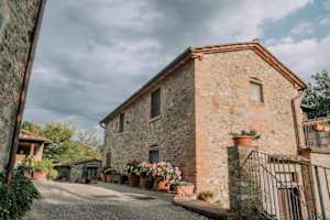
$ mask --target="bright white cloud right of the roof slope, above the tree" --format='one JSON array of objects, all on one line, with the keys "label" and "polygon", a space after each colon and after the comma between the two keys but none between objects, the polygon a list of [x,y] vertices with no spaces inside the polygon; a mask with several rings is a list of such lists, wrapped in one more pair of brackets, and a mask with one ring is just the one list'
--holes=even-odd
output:
[{"label": "bright white cloud right of the roof slope, above the tree", "polygon": [[317,38],[279,41],[268,48],[305,80],[317,70],[330,69],[330,35],[319,41]]}]

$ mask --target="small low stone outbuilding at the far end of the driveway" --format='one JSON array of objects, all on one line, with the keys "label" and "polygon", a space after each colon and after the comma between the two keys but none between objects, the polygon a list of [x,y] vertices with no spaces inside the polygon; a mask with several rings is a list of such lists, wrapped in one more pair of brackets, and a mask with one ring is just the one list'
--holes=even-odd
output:
[{"label": "small low stone outbuilding at the far end of the driveway", "polygon": [[58,172],[58,180],[88,184],[99,179],[101,161],[97,158],[79,160],[56,164],[54,168]]}]

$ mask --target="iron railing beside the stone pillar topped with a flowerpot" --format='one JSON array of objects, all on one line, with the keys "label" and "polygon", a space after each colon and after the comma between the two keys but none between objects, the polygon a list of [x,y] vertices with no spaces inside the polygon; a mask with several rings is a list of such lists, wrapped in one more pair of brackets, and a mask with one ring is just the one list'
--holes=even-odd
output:
[{"label": "iron railing beside the stone pillar topped with a flowerpot", "polygon": [[251,152],[241,168],[245,210],[278,220],[330,219],[330,168]]}]

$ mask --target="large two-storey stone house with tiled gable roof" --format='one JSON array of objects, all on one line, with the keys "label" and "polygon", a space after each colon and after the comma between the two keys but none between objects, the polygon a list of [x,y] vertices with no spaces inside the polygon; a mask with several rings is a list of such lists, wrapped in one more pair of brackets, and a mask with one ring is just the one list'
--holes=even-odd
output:
[{"label": "large two-storey stone house with tiled gable roof", "polygon": [[297,156],[305,88],[257,41],[188,48],[100,122],[103,164],[170,162],[229,208],[229,133],[255,129],[258,151]]}]

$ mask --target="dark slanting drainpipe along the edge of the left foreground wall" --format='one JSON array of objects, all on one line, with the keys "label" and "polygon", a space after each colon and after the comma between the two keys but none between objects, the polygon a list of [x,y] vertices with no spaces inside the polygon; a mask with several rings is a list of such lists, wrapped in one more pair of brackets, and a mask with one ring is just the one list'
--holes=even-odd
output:
[{"label": "dark slanting drainpipe along the edge of the left foreground wall", "polygon": [[36,47],[36,42],[37,42],[40,29],[41,29],[44,10],[45,10],[45,3],[46,3],[46,0],[41,0],[40,4],[38,4],[37,16],[35,20],[35,28],[32,33],[31,46],[29,48],[28,59],[26,59],[25,67],[24,67],[24,75],[23,75],[23,81],[22,81],[22,86],[21,86],[19,106],[18,106],[16,113],[15,113],[16,118],[15,118],[14,127],[12,130],[9,160],[8,160],[8,164],[6,167],[6,169],[7,169],[6,170],[6,183],[7,184],[10,184],[10,182],[11,182],[13,168],[15,165],[15,157],[16,157],[16,151],[18,151],[18,144],[19,144],[19,135],[20,135],[20,130],[21,130],[23,111],[24,111],[24,107],[25,107],[26,92],[28,92],[29,81],[31,78],[32,64],[34,61],[35,47]]}]

